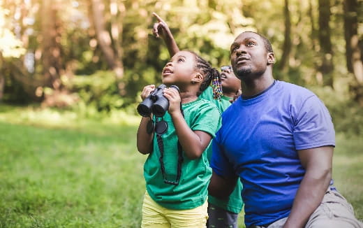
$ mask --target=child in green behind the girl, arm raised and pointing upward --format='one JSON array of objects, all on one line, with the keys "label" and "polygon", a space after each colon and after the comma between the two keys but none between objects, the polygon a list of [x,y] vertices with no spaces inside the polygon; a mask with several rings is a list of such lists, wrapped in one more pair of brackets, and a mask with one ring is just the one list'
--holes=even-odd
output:
[{"label": "child in green behind the girl, arm raised and pointing upward", "polygon": [[[179,51],[177,43],[168,27],[168,24],[161,19],[156,13],[153,13],[154,17],[158,20],[154,24],[153,34],[156,37],[161,37],[165,42],[166,47],[170,53],[170,56],[175,55]],[[213,86],[213,85],[212,85]],[[208,87],[200,98],[211,101],[215,104],[218,110],[223,113],[231,102],[241,94],[241,81],[235,76],[231,66],[221,67],[221,86],[223,94],[220,99],[214,99],[214,92],[212,87]],[[207,157],[210,159],[212,151],[208,150]],[[215,197],[208,197],[208,221],[207,228],[237,228],[238,213],[242,211],[243,201],[241,197],[242,184],[239,182],[232,194],[228,199],[216,199]]]}]

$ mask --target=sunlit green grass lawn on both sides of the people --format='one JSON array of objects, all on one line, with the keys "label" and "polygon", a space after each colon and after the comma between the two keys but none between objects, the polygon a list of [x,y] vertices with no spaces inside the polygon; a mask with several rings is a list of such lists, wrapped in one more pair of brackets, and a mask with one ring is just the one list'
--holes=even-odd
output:
[{"label": "sunlit green grass lawn on both sides of the people", "polygon": [[[0,106],[0,227],[140,227],[146,156],[135,148],[139,119]],[[360,220],[361,138],[337,134],[333,169]]]}]

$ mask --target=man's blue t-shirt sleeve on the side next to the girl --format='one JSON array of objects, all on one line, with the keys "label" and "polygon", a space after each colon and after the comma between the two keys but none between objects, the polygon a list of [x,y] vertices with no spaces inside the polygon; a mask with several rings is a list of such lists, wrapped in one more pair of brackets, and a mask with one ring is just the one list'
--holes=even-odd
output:
[{"label": "man's blue t-shirt sleeve on the side next to the girl", "polygon": [[219,144],[219,131],[216,138],[212,140],[212,158],[210,166],[213,171],[219,176],[235,176],[232,164],[230,164],[228,157],[225,156],[223,147]]}]

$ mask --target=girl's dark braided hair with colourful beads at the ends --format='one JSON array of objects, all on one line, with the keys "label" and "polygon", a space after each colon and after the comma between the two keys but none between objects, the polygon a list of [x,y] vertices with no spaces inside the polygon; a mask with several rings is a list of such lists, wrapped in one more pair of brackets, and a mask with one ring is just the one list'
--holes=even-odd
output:
[{"label": "girl's dark braided hair with colourful beads at the ends", "polygon": [[207,62],[195,52],[188,52],[191,52],[195,56],[195,69],[197,69],[197,71],[199,71],[199,73],[201,73],[204,78],[202,84],[200,85],[199,91],[197,92],[197,96],[205,91],[205,89],[207,89],[207,87],[212,83],[213,98],[218,100],[221,99],[223,92],[221,76],[219,75],[218,70],[213,68],[209,62]]}]

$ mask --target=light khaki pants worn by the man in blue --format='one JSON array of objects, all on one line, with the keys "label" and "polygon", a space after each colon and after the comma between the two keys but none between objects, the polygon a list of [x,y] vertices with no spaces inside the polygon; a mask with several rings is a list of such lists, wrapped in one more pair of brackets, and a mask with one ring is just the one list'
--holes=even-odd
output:
[{"label": "light khaki pants worn by the man in blue", "polygon": [[[282,228],[288,218],[277,220],[268,226],[249,228]],[[339,192],[327,190],[320,206],[310,216],[305,228],[363,228],[354,216],[352,205]]]}]

